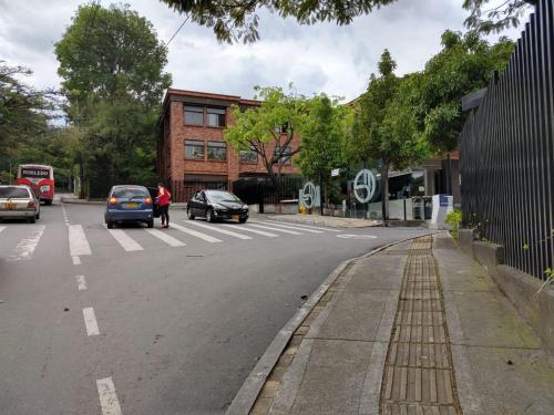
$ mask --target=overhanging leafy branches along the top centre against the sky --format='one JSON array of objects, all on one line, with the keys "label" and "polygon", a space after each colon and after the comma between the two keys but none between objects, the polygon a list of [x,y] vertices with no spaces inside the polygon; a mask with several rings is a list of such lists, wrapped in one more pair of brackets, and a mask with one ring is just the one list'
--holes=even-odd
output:
[{"label": "overhanging leafy branches along the top centre against the sky", "polygon": [[258,34],[258,9],[267,8],[281,18],[291,17],[300,24],[335,21],[349,24],[373,9],[397,0],[161,0],[179,13],[185,13],[201,25],[213,28],[218,41],[255,42]]}]

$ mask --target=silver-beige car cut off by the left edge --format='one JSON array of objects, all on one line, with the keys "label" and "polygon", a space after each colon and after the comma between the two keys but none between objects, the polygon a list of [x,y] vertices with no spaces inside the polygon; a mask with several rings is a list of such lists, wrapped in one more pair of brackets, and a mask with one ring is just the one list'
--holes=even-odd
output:
[{"label": "silver-beige car cut off by the left edge", "polygon": [[29,186],[0,186],[0,219],[40,219],[40,203]]}]

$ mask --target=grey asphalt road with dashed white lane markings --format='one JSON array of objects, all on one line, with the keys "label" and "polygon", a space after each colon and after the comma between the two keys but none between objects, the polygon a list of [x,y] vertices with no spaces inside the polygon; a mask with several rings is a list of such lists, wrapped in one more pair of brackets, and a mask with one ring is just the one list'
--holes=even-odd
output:
[{"label": "grey asphalt road with dashed white lane markings", "polygon": [[301,295],[345,259],[423,232],[293,235],[295,225],[264,217],[257,225],[275,229],[206,229],[171,215],[203,237],[112,235],[93,205],[43,206],[35,225],[0,222],[2,415],[220,414]]}]

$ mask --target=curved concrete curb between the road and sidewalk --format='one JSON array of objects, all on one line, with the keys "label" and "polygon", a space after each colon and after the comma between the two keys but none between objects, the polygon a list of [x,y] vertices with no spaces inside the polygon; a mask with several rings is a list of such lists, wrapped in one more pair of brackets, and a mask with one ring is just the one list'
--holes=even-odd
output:
[{"label": "curved concrete curb between the road and sidewalk", "polygon": [[362,258],[371,257],[387,248],[393,247],[406,241],[421,238],[428,235],[435,235],[434,232],[429,232],[420,235],[417,237],[406,238],[394,242],[386,243],[379,248],[375,248],[371,251],[363,253],[359,257],[347,259],[342,261],[318,287],[318,289],[310,295],[310,298],[298,309],[298,311],[293,315],[293,318],[285,324],[285,326],[277,333],[273,342],[267,347],[264,355],[259,359],[256,366],[253,369],[243,386],[236,394],[235,398],[230,403],[229,407],[225,412],[225,415],[245,415],[248,414],[254,406],[261,387],[264,386],[267,376],[273,371],[275,364],[280,357],[283,351],[287,346],[293,333],[300,326],[306,317],[311,312],[314,307],[319,302],[321,297],[327,292],[329,287],[335,282],[335,280],[340,276],[340,273],[348,267],[350,262],[357,261]]}]

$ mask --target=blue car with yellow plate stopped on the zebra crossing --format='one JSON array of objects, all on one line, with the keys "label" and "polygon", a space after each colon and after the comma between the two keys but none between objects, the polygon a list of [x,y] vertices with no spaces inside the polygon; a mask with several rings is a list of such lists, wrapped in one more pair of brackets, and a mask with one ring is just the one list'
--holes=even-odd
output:
[{"label": "blue car with yellow plate stopped on the zebra crossing", "polygon": [[154,226],[154,200],[144,186],[113,186],[106,200],[105,222],[145,222]]}]

